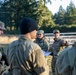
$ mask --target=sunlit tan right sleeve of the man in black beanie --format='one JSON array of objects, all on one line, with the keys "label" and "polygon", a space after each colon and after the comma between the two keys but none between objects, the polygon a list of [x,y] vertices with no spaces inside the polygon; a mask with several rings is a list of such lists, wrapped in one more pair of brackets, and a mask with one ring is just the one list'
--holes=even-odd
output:
[{"label": "sunlit tan right sleeve of the man in black beanie", "polygon": [[41,50],[34,51],[30,56],[30,61],[33,63],[33,69],[36,75],[49,75],[47,61]]}]

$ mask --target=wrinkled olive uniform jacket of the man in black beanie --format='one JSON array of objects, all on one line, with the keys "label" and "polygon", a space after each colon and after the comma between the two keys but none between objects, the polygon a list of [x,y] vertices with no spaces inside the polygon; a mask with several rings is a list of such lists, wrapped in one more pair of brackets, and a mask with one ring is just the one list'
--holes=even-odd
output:
[{"label": "wrinkled olive uniform jacket of the man in black beanie", "polygon": [[12,75],[49,75],[41,48],[23,35],[8,46],[7,56]]}]

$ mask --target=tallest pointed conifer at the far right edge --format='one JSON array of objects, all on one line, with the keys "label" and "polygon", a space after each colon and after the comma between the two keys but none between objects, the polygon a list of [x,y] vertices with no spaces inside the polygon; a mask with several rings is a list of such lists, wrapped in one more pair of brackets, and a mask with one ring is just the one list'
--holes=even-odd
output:
[{"label": "tallest pointed conifer at the far right edge", "polygon": [[76,7],[71,1],[69,6],[67,6],[65,13],[65,24],[71,25],[76,24]]}]

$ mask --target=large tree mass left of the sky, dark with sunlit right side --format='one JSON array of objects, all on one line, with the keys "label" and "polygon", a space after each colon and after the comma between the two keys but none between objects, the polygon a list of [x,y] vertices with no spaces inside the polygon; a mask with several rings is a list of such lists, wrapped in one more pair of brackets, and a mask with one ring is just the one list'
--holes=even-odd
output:
[{"label": "large tree mass left of the sky, dark with sunlit right side", "polygon": [[32,17],[41,26],[53,26],[52,13],[43,4],[44,0],[4,0],[1,4],[2,19],[9,30],[19,29],[19,24],[23,17]]}]

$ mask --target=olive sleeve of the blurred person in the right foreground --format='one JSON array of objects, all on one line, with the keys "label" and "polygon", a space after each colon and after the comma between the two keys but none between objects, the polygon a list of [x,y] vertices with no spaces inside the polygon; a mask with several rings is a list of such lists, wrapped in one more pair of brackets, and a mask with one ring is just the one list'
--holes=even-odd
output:
[{"label": "olive sleeve of the blurred person in the right foreground", "polygon": [[56,62],[56,75],[71,75],[67,52],[62,52]]}]

